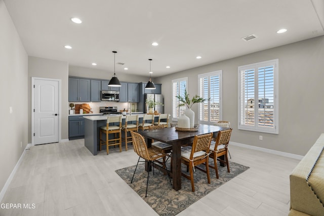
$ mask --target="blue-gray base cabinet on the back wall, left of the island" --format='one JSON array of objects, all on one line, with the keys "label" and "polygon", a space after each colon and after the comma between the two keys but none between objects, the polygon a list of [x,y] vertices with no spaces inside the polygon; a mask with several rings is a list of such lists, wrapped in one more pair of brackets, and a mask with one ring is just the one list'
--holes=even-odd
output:
[{"label": "blue-gray base cabinet on the back wall, left of the island", "polygon": [[83,115],[69,116],[69,140],[85,137],[85,119]]}]

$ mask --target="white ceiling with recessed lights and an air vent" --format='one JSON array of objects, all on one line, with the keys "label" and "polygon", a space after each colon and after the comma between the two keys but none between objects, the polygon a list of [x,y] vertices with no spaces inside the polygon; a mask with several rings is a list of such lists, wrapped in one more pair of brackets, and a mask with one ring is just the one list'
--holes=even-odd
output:
[{"label": "white ceiling with recessed lights and an air vent", "polygon": [[150,58],[158,77],[324,34],[322,0],[4,2],[29,56],[113,71],[117,51],[117,76],[148,76]]}]

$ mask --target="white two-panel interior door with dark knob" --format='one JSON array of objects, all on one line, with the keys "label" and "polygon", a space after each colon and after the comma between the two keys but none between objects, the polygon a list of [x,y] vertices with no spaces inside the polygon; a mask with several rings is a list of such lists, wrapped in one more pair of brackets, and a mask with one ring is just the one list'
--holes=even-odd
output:
[{"label": "white two-panel interior door with dark knob", "polygon": [[34,79],[34,144],[59,142],[59,81]]}]

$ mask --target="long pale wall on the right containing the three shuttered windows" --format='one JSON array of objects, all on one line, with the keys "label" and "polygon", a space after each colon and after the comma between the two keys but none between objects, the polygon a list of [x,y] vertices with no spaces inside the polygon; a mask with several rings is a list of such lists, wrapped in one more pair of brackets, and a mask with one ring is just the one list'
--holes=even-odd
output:
[{"label": "long pale wall on the right containing the three shuttered windows", "polygon": [[[279,134],[237,129],[237,67],[279,59]],[[231,122],[231,141],[305,155],[324,133],[324,36],[159,77],[162,94],[171,95],[171,80],[188,77],[189,94],[197,94],[197,75],[223,70],[223,119]],[[197,106],[193,106],[197,113]],[[165,97],[171,113],[171,98]],[[197,115],[195,115],[197,121]],[[259,140],[263,136],[263,141]]]}]

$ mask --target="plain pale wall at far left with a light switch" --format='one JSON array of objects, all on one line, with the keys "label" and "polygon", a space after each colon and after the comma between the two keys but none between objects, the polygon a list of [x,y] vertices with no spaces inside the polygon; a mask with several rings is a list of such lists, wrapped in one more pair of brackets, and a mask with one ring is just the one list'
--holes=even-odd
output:
[{"label": "plain pale wall at far left with a light switch", "polygon": [[[0,189],[27,145],[27,53],[0,0]],[[12,107],[12,114],[9,113]]]}]

